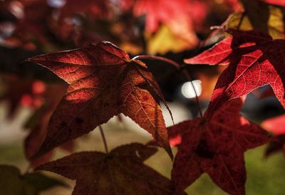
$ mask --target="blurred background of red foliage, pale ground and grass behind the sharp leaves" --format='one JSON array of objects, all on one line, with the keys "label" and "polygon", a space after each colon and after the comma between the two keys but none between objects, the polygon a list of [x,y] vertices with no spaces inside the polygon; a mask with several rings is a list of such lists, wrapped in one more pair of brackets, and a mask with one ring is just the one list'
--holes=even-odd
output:
[{"label": "blurred background of red foliage, pale ground and grass behind the sharp leaves", "polygon": [[[255,25],[257,21],[247,14],[263,11],[269,11],[269,16],[258,18],[258,22],[266,21],[259,27]],[[128,51],[131,57],[162,56],[184,66],[185,58],[195,56],[228,36],[217,27],[211,30],[211,26],[244,30],[257,28],[274,38],[284,38],[284,8],[259,0],[251,3],[245,0],[1,0],[0,164],[14,164],[22,172],[26,171],[31,156],[46,135],[49,117],[67,88],[66,83],[51,71],[32,63],[21,63],[23,60],[42,53],[110,41]],[[159,83],[175,123],[199,114],[193,86],[202,111],[207,109],[217,78],[224,70],[224,67],[189,65],[185,69],[192,78],[192,85],[168,63],[142,61]],[[165,107],[163,113],[167,126],[172,125]],[[264,86],[247,95],[241,114],[263,125],[266,119],[282,117],[284,108],[273,96],[271,88]],[[283,124],[279,127],[285,133],[285,122]],[[271,126],[267,123],[264,128],[274,131]],[[146,143],[151,139],[123,115],[113,117],[103,128],[110,149],[130,142]],[[285,193],[285,161],[281,151],[284,143],[284,137],[278,135],[276,142],[251,149],[245,154],[247,194]],[[31,147],[33,149],[28,149]],[[98,130],[61,146],[31,164],[36,166],[46,160],[83,150],[103,151]],[[176,151],[175,148],[173,151]],[[170,178],[172,162],[164,151],[157,152],[146,164]],[[63,180],[74,185],[72,181]],[[61,187],[42,194],[71,194],[71,191],[72,187]],[[206,174],[195,181],[187,192],[225,194]]]}]

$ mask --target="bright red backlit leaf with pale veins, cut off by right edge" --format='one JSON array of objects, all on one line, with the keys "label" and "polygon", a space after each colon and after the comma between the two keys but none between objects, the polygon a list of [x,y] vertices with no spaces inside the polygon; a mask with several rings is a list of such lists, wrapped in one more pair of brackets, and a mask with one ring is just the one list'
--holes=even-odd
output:
[{"label": "bright red backlit leaf with pale veins, cut off by right edge", "polygon": [[208,114],[211,115],[227,100],[241,97],[267,84],[285,107],[285,41],[273,41],[270,36],[257,31],[229,32],[233,36],[185,60],[190,64],[229,65],[217,80]]}]

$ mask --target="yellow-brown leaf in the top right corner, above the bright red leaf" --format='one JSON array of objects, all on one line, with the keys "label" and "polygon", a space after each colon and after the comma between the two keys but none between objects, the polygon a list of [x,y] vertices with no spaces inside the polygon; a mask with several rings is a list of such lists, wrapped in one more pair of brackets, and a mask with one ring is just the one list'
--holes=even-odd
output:
[{"label": "yellow-brown leaf in the top right corner, above the bright red leaf", "polygon": [[242,1],[245,11],[237,11],[227,19],[227,28],[241,31],[261,31],[273,38],[285,38],[284,12],[279,6],[272,6],[259,0]]}]

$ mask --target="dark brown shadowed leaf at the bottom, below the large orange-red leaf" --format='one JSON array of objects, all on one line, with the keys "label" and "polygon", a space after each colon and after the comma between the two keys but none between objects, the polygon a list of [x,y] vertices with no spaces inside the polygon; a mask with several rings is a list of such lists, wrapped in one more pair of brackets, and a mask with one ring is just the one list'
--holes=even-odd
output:
[{"label": "dark brown shadowed leaf at the bottom, below the large orange-red leaf", "polygon": [[76,179],[73,195],[173,194],[172,182],[143,164],[156,151],[154,147],[133,143],[117,147],[109,154],[71,154],[43,164],[36,170],[55,172],[69,179]]}]

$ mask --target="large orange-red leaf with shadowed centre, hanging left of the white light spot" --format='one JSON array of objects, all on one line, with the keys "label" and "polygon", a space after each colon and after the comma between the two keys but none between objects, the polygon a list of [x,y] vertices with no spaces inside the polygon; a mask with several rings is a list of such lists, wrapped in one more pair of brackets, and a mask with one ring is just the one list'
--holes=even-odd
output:
[{"label": "large orange-red leaf with shadowed centre, hanging left of the white light spot", "polygon": [[128,53],[108,42],[28,60],[49,68],[70,84],[51,116],[36,157],[120,113],[150,132],[172,157],[159,104],[159,100],[165,100],[140,60],[130,60]]}]

